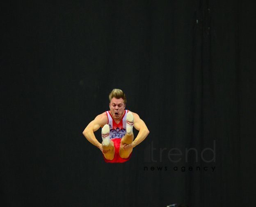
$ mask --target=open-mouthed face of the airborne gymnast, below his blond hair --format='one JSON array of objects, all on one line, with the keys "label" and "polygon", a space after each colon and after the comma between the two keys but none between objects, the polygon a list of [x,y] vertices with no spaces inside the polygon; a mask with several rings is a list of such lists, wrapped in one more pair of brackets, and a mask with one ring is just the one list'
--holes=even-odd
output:
[{"label": "open-mouthed face of the airborne gymnast, below his blond hair", "polygon": [[120,119],[123,117],[125,104],[123,103],[123,99],[113,98],[110,101],[110,112],[114,119]]}]

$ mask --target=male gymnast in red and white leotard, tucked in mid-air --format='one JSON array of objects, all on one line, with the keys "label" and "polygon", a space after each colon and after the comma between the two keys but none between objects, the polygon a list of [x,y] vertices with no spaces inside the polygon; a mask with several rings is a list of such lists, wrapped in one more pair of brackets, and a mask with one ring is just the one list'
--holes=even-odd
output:
[{"label": "male gymnast in red and white leotard, tucked in mid-air", "polygon": [[[102,151],[105,162],[126,162],[133,148],[146,138],[149,130],[139,115],[125,110],[126,96],[122,90],[113,89],[109,99],[110,110],[96,116],[85,128],[83,135]],[[135,139],[133,126],[139,130]],[[100,127],[102,143],[94,135],[94,131]]]}]

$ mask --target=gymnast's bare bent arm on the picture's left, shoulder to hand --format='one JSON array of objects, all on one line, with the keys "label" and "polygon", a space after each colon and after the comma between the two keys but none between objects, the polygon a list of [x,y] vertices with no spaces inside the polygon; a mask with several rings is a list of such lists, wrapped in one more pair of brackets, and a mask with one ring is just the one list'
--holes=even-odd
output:
[{"label": "gymnast's bare bent arm on the picture's left, shoulder to hand", "polygon": [[98,142],[98,140],[96,139],[94,132],[98,130],[101,126],[104,126],[105,124],[107,124],[107,115],[104,112],[96,116],[96,118],[93,121],[91,121],[83,131],[83,135],[86,137],[86,139],[89,142],[91,142],[91,144],[101,149],[101,151],[102,151],[101,143]]}]

